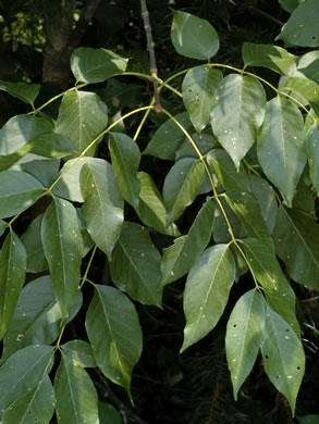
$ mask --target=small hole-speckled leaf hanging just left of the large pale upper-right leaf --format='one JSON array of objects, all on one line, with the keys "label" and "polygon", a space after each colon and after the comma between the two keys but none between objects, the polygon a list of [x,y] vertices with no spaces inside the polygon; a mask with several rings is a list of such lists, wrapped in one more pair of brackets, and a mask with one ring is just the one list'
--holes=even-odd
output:
[{"label": "small hole-speckled leaf hanging just left of the large pale upper-right leaf", "polygon": [[213,93],[222,77],[220,71],[207,70],[203,66],[193,67],[184,77],[183,101],[192,124],[199,134],[209,122],[214,101]]}]

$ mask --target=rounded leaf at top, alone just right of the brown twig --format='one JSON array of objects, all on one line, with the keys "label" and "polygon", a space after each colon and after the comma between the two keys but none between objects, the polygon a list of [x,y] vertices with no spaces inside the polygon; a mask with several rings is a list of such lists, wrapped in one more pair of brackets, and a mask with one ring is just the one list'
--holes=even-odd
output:
[{"label": "rounded leaf at top, alone just right of the brown twig", "polygon": [[206,20],[172,10],[171,40],[179,54],[209,61],[219,50],[219,38]]}]

